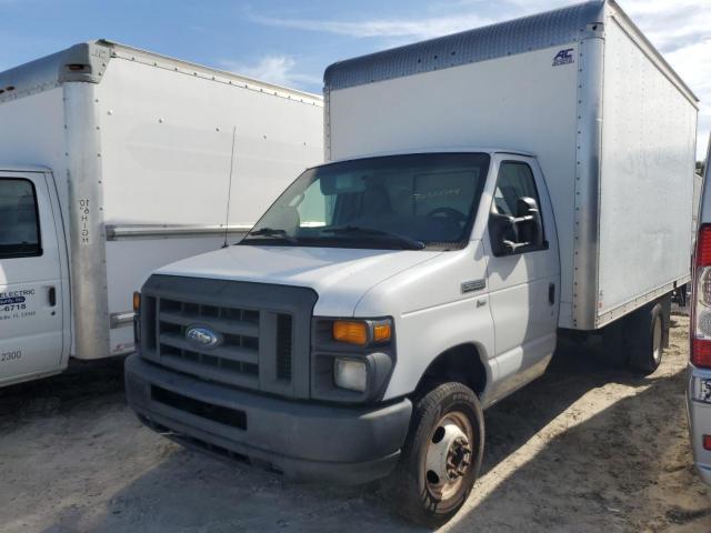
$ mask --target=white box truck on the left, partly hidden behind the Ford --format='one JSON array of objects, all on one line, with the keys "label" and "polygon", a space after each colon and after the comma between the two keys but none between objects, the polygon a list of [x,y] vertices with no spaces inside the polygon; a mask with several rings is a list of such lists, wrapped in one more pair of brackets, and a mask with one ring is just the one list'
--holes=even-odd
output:
[{"label": "white box truck on the left, partly hidden behind the Ford", "polygon": [[323,160],[322,98],[108,41],[0,73],[0,385],[133,351],[133,291]]}]

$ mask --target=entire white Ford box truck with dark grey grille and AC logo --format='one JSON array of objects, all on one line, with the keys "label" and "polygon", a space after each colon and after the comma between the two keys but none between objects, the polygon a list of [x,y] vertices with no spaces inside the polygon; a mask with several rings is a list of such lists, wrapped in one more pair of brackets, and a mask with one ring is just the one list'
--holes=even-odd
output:
[{"label": "entire white Ford box truck with dark grey grille and AC logo", "polygon": [[294,477],[390,474],[397,509],[439,523],[477,477],[482,410],[561,332],[659,364],[690,276],[697,99],[612,1],[324,82],[330,162],[238,245],[143,285],[129,403]]}]

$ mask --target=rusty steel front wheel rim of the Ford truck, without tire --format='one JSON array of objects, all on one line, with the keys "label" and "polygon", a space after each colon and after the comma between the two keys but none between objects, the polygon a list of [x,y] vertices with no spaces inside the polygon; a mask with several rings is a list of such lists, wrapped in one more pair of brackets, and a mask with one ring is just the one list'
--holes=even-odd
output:
[{"label": "rusty steel front wheel rim of the Ford truck, without tire", "polygon": [[424,461],[427,489],[437,500],[455,495],[473,462],[473,429],[461,412],[447,413],[434,425]]}]

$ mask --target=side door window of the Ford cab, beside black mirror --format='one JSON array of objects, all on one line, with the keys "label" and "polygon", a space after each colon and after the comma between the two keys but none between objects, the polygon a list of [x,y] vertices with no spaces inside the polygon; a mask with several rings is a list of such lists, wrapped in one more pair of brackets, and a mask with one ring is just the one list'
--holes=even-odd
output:
[{"label": "side door window of the Ford cab, beside black mirror", "polygon": [[531,167],[521,161],[502,162],[489,218],[494,255],[511,255],[547,247],[540,204]]}]

